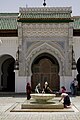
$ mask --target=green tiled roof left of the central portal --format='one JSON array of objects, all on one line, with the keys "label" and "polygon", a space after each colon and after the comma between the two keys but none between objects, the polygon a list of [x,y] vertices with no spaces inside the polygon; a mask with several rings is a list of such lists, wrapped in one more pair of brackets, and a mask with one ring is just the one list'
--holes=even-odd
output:
[{"label": "green tiled roof left of the central portal", "polygon": [[0,29],[17,29],[17,17],[19,13],[0,13]]}]

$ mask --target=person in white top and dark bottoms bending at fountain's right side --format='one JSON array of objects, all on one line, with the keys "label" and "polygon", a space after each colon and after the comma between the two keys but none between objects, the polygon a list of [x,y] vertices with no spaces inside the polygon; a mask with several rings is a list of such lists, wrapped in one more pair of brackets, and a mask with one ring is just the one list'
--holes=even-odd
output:
[{"label": "person in white top and dark bottoms bending at fountain's right side", "polygon": [[63,100],[64,108],[70,107],[71,101],[70,101],[70,97],[67,93],[62,93],[61,94],[61,99],[59,100],[59,102],[62,101],[62,100]]}]

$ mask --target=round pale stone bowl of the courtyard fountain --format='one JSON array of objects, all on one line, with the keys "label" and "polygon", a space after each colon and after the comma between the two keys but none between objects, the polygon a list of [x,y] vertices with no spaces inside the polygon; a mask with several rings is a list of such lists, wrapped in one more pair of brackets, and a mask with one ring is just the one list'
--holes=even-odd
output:
[{"label": "round pale stone bowl of the courtyard fountain", "polygon": [[55,94],[31,94],[31,98],[33,98],[38,103],[46,103],[48,100],[53,99],[55,96]]}]

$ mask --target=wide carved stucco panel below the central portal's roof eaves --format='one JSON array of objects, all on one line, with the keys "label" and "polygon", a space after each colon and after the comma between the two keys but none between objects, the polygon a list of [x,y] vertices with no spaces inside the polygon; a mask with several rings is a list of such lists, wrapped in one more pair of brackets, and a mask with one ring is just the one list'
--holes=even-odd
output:
[{"label": "wide carved stucco panel below the central portal's roof eaves", "polygon": [[23,36],[68,36],[68,24],[24,24]]}]

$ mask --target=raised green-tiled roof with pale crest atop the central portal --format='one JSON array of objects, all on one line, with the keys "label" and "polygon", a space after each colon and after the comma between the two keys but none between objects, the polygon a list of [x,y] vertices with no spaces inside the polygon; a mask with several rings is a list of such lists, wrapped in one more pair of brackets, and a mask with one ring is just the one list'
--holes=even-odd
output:
[{"label": "raised green-tiled roof with pale crest atop the central portal", "polygon": [[19,18],[70,18],[71,7],[20,8]]}]

